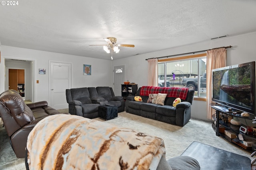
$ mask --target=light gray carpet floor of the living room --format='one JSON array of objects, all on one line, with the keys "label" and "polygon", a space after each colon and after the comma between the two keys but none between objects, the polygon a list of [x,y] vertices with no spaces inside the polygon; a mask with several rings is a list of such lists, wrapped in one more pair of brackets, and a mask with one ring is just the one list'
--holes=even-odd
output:
[{"label": "light gray carpet floor of the living room", "polygon": [[[60,109],[61,113],[68,109]],[[98,121],[105,121],[96,118]],[[105,121],[114,125],[129,127],[136,131],[154,135],[164,139],[166,148],[166,159],[180,156],[186,148],[193,142],[198,141],[219,149],[227,150],[251,159],[250,153],[242,150],[222,137],[216,136],[212,129],[212,122],[190,119],[184,126],[179,127],[160,121],[147,119],[130,113],[118,113],[118,117]],[[214,158],[212,158],[214,159]],[[25,170],[24,158],[16,158],[9,143],[9,137],[0,123],[0,169],[1,170]]]}]

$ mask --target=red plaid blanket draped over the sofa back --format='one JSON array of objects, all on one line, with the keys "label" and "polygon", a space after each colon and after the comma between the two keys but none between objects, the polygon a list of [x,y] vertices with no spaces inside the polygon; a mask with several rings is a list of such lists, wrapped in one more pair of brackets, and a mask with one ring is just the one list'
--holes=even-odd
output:
[{"label": "red plaid blanket draped over the sofa back", "polygon": [[188,94],[188,88],[142,86],[140,89],[140,96],[148,96],[149,94],[158,93],[167,94],[166,97],[180,98],[185,100]]}]

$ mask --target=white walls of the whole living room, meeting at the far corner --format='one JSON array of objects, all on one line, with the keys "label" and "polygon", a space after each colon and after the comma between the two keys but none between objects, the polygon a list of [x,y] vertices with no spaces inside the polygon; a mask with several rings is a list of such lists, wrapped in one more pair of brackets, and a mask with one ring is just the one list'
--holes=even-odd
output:
[{"label": "white walls of the whole living room, meeting at the far corner", "polygon": [[[1,63],[0,63],[0,92],[4,89],[5,80],[5,64],[4,58],[35,60],[34,81],[39,80],[39,84],[35,84],[35,102],[46,100],[49,101],[49,61],[59,61],[72,63],[72,88],[78,87],[96,87],[96,86],[112,86],[114,66],[125,66],[125,80],[135,82],[138,87],[148,85],[148,62],[145,59],[153,57],[162,57],[168,55],[176,55],[181,53],[189,53],[201,51],[222,46],[233,46],[227,49],[227,65],[234,65],[255,61],[256,58],[256,32],[237,35],[233,37],[225,37],[221,39],[209,40],[182,47],[175,47],[154,53],[136,55],[126,59],[118,60],[102,60],[89,57],[79,57],[74,55],[64,55],[59,53],[50,53],[45,51],[36,51],[30,49],[21,49],[16,47],[1,47]],[[84,76],[82,74],[83,64],[92,65],[92,76]],[[38,74],[38,68],[46,68],[46,75]],[[192,117],[197,119],[208,120],[206,118],[206,102],[193,101]]]}]

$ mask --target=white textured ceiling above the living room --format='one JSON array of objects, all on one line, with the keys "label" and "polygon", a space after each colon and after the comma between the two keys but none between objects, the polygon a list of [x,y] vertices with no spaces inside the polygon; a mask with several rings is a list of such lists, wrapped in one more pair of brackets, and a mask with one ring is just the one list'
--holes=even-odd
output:
[{"label": "white textured ceiling above the living room", "polygon": [[256,31],[256,0],[19,0],[0,6],[1,45],[114,59]]}]

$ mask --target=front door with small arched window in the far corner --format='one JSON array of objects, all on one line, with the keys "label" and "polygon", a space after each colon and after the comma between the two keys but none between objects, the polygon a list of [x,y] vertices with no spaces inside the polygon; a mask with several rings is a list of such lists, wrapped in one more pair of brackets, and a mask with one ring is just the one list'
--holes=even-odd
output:
[{"label": "front door with small arched window in the far corner", "polygon": [[114,94],[121,96],[121,84],[124,84],[124,66],[114,67]]}]

